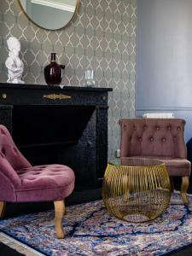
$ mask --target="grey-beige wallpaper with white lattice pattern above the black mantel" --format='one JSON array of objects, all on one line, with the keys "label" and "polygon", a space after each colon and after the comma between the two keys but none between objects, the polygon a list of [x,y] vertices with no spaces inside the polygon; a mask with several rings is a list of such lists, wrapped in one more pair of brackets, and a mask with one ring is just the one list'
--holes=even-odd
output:
[{"label": "grey-beige wallpaper with white lattice pattern above the black mantel", "polygon": [[6,40],[20,40],[23,79],[44,84],[49,53],[65,64],[62,84],[83,84],[84,69],[93,68],[96,86],[112,87],[108,110],[108,157],[119,148],[122,117],[135,116],[137,0],[80,0],[78,15],[61,30],[47,31],[26,18],[17,0],[0,5],[0,82],[6,82]]}]

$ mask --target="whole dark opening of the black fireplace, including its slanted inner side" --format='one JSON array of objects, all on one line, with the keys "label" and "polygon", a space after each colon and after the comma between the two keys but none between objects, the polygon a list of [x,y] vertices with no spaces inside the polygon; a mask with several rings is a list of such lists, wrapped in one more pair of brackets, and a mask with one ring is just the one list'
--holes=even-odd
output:
[{"label": "whole dark opening of the black fireplace, including its slanted inner side", "polygon": [[96,108],[15,106],[15,144],[32,166],[62,164],[75,172],[75,190],[97,186]]}]

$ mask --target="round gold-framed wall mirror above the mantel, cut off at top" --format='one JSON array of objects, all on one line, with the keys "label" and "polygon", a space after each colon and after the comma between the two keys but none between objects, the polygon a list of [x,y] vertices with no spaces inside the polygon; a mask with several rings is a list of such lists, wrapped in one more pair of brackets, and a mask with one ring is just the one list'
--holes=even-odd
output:
[{"label": "round gold-framed wall mirror above the mantel, cut off at top", "polygon": [[77,12],[79,0],[18,0],[21,9],[37,26],[55,30],[67,26]]}]

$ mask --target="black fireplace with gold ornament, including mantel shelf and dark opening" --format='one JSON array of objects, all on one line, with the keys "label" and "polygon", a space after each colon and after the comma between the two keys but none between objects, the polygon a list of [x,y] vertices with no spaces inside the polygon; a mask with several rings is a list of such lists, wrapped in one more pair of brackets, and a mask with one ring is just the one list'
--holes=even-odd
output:
[{"label": "black fireplace with gold ornament, including mantel shelf and dark opening", "polygon": [[108,163],[108,91],[0,83],[0,123],[32,165],[70,166],[75,191],[97,189]]}]

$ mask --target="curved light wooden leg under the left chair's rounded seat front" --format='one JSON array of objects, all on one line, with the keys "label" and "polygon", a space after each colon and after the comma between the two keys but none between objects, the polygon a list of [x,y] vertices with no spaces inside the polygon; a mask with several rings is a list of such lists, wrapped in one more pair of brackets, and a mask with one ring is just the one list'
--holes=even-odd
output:
[{"label": "curved light wooden leg under the left chair's rounded seat front", "polygon": [[64,231],[62,228],[62,217],[65,212],[65,203],[64,201],[54,201],[55,206],[55,232],[57,238],[64,238]]}]

